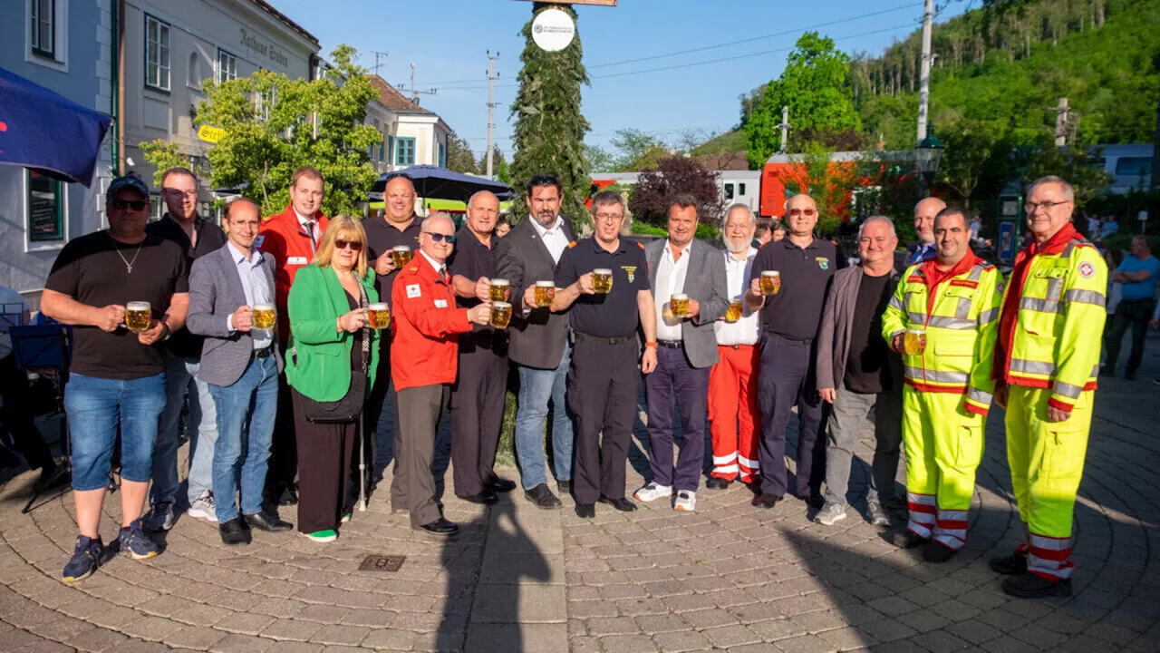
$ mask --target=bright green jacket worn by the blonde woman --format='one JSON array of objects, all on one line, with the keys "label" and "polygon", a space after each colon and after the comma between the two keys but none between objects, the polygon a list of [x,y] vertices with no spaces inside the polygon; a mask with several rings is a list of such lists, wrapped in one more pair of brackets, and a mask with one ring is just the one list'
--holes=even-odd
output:
[{"label": "bright green jacket worn by the blonde woman", "polygon": [[[363,279],[367,301],[378,301],[374,272]],[[314,401],[338,401],[350,389],[350,350],[354,333],[339,332],[336,321],[350,313],[347,293],[333,267],[307,265],[298,270],[288,300],[290,344],[297,357],[287,351],[287,379],[299,393]],[[367,366],[367,390],[375,385],[378,368],[379,332],[370,330],[370,361]],[[296,359],[297,358],[297,359]]]}]

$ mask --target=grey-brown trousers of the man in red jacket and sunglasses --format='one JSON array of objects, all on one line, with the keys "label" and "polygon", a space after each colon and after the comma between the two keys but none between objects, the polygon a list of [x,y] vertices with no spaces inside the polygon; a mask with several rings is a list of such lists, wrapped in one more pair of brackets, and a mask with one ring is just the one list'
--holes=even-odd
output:
[{"label": "grey-brown trousers of the man in red jacket and sunglasses", "polygon": [[391,480],[391,509],[411,511],[411,525],[440,518],[435,503],[435,430],[447,409],[451,386],[419,386],[399,390],[399,431]]}]

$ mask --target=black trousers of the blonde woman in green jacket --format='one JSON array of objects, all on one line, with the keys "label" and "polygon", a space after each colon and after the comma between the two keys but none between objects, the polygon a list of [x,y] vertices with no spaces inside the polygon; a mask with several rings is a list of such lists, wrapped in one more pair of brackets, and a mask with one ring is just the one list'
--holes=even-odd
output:
[{"label": "black trousers of the blonde woman in green jacket", "polygon": [[347,508],[358,423],[316,424],[303,412],[303,403],[309,400],[298,390],[291,389],[291,394],[298,440],[298,530],[334,530]]}]

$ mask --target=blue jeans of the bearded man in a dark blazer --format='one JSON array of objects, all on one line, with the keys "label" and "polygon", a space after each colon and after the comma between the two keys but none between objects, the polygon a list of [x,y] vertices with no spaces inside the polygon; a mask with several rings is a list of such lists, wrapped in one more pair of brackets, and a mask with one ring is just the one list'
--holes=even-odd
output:
[{"label": "blue jeans of the bearded man in a dark blazer", "polygon": [[572,480],[572,414],[564,393],[567,389],[572,345],[564,345],[564,356],[556,369],[520,366],[520,407],[515,414],[515,453],[520,461],[520,482],[531,489],[548,482],[544,464],[544,419],[548,400],[556,410],[552,419],[552,467],[557,481]]}]

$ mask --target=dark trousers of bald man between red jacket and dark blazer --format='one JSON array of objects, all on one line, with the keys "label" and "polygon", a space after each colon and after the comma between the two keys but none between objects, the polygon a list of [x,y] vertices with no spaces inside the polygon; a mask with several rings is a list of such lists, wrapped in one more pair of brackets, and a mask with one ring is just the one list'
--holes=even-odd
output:
[{"label": "dark trousers of bald man between red jacket and dark blazer", "polygon": [[[472,496],[495,480],[503,425],[507,357],[461,336],[459,373],[451,387],[451,467],[455,494]],[[490,338],[488,338],[490,339]]]}]

